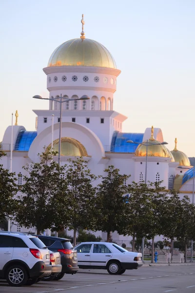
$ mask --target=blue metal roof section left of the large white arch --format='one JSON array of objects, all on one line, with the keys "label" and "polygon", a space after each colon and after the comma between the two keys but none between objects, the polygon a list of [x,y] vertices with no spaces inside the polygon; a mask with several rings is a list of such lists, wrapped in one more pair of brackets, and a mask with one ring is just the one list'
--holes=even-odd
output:
[{"label": "blue metal roof section left of the large white arch", "polygon": [[20,130],[14,150],[28,151],[37,136],[37,131]]}]

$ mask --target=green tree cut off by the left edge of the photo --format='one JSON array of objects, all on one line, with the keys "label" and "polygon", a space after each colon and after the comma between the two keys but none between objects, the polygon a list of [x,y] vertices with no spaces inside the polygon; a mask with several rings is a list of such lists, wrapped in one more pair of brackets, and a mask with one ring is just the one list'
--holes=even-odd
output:
[{"label": "green tree cut off by the left edge of the photo", "polygon": [[[0,159],[6,154],[0,149]],[[12,218],[17,209],[15,195],[18,192],[17,178],[0,164],[0,222],[6,217]]]}]

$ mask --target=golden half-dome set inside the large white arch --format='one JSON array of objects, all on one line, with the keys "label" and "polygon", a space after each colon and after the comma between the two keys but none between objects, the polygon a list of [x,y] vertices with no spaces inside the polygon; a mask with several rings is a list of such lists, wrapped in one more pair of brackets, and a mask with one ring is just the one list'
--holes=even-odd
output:
[{"label": "golden half-dome set inside the large white arch", "polygon": [[[51,147],[51,144],[48,146]],[[53,143],[54,151],[59,150],[59,139]],[[61,138],[61,156],[81,157],[87,156],[85,147],[78,140],[70,137]]]}]

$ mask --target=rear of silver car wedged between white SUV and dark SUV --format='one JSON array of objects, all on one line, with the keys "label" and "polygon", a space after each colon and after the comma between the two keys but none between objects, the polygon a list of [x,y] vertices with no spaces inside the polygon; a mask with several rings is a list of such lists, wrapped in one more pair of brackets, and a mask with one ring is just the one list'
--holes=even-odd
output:
[{"label": "rear of silver car wedged between white SUV and dark SUV", "polygon": [[53,280],[56,276],[58,276],[61,272],[61,257],[59,252],[50,252],[50,264],[52,265],[52,273],[49,276],[45,276],[42,278],[43,281]]}]

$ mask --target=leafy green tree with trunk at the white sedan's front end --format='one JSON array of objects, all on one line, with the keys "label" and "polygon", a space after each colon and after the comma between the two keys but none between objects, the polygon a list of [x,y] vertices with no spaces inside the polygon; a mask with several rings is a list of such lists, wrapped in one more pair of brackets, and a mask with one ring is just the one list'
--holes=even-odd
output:
[{"label": "leafy green tree with trunk at the white sedan's front end", "polygon": [[[69,160],[66,170],[68,206],[62,205],[68,213],[68,220],[65,216],[63,224],[69,230],[74,230],[74,242],[76,245],[76,233],[78,228],[93,230],[96,222],[95,219],[95,195],[96,188],[93,182],[99,177],[91,173],[87,167],[87,162],[82,158]],[[61,218],[63,218],[63,212]]]}]

